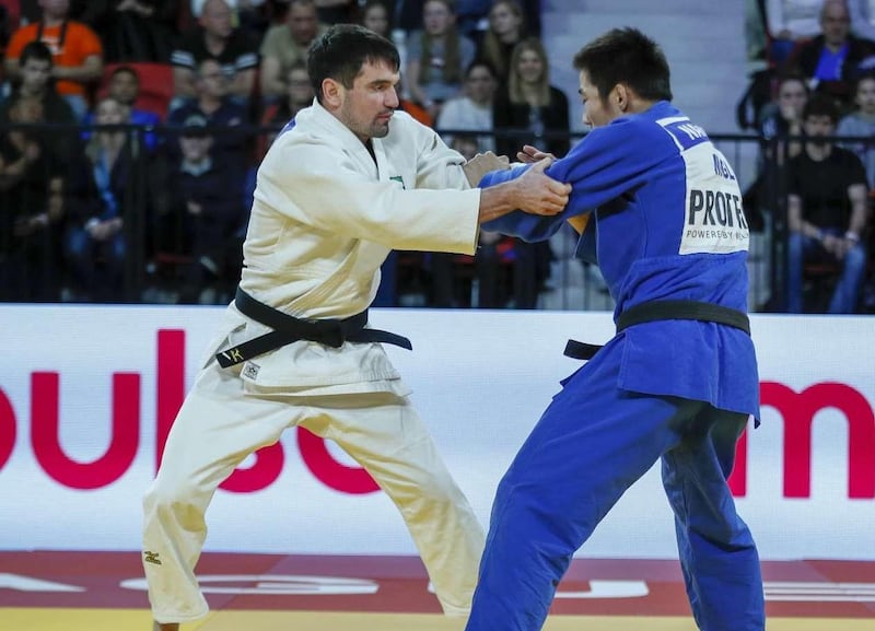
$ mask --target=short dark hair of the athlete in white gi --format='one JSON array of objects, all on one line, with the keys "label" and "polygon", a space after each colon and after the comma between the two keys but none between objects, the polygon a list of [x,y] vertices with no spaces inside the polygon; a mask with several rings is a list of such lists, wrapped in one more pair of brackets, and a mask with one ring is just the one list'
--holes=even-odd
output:
[{"label": "short dark hair of the athlete in white gi", "polygon": [[336,24],[317,37],[307,55],[307,74],[318,102],[323,81],[334,79],[350,89],[365,62],[386,63],[396,72],[401,66],[395,44],[364,26]]}]

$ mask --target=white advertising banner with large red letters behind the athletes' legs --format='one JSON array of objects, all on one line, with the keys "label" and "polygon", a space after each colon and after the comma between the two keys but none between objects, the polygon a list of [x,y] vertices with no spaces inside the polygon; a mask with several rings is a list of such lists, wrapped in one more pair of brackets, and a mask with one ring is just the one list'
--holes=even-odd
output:
[{"label": "white advertising banner with large red letters behind the athletes' legs", "polygon": [[[222,307],[0,307],[0,549],[135,550],[140,502]],[[483,524],[559,381],[569,337],[608,313],[373,309]],[[755,315],[762,426],[732,478],[763,559],[875,559],[875,318]],[[208,513],[208,550],[415,554],[394,506],[335,445],[291,430],[244,463]],[[673,558],[658,469],[579,552]]]}]

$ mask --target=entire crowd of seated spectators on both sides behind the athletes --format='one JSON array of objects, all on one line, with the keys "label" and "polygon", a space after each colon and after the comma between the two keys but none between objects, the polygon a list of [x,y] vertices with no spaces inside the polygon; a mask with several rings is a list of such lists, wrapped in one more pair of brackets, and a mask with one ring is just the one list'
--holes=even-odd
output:
[{"label": "entire crowd of seated spectators on both sides behind the athletes", "polygon": [[[751,308],[875,311],[875,2],[747,1],[745,202],[785,246]],[[0,0],[0,301],[228,302],[258,164],[341,22],[396,43],[400,108],[464,155],[573,142],[538,0]],[[536,308],[556,258],[487,232],[396,253],[375,304]]]}]

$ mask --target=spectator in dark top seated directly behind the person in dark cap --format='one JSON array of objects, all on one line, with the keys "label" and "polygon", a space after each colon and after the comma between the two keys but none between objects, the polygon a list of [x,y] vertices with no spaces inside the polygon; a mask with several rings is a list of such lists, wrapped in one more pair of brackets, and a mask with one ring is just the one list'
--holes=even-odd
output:
[{"label": "spectator in dark top seated directly behind the person in dark cap", "polygon": [[[213,159],[236,168],[240,177],[245,177],[250,167],[247,153],[249,139],[242,130],[246,122],[246,110],[229,97],[228,83],[228,75],[217,60],[201,61],[195,80],[195,101],[171,110],[167,125],[182,128],[192,114],[201,115],[207,119],[209,131],[213,136]],[[172,138],[168,141],[173,153],[178,147],[178,141],[174,138],[176,132],[168,136]]]}]

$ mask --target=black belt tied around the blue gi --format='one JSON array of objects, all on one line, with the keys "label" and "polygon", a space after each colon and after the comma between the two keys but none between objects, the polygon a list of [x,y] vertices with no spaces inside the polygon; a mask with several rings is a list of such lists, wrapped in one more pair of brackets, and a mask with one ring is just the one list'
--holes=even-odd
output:
[{"label": "black belt tied around the blue gi", "polygon": [[[617,318],[617,332],[642,323],[678,319],[728,325],[750,335],[750,320],[747,314],[734,308],[692,300],[662,300],[644,302],[630,307]],[[564,354],[575,360],[591,360],[599,349],[602,349],[599,344],[568,340]]]}]

